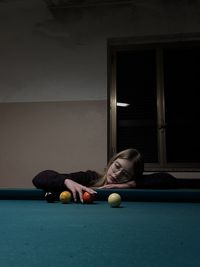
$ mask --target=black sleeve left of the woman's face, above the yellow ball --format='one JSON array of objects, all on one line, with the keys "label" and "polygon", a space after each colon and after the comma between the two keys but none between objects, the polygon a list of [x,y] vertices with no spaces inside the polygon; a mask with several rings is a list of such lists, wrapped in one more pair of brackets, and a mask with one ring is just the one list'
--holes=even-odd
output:
[{"label": "black sleeve left of the woman's face, above the yellow ball", "polygon": [[90,186],[93,181],[98,179],[98,174],[94,171],[75,172],[61,174],[53,170],[46,170],[38,173],[32,180],[34,186],[50,192],[61,192],[66,190],[65,179],[71,179],[79,184]]}]

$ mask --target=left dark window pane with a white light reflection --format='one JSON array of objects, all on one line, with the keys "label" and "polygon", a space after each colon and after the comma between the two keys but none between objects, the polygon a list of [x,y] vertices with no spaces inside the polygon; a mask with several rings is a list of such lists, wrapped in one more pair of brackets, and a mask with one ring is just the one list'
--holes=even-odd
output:
[{"label": "left dark window pane with a white light reflection", "polygon": [[153,50],[117,53],[117,151],[142,152],[145,162],[157,162],[156,56]]}]

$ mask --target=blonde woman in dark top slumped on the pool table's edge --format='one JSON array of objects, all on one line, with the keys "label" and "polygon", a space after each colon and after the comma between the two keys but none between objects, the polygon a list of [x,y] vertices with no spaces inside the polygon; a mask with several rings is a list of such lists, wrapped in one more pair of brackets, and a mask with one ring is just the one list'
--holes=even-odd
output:
[{"label": "blonde woman in dark top slumped on the pool table's edge", "polygon": [[83,192],[96,194],[95,188],[177,188],[177,179],[169,173],[143,174],[144,162],[136,149],[126,149],[111,158],[103,175],[96,171],[58,173],[45,170],[37,174],[32,182],[46,192],[70,190],[76,202],[83,201]]}]

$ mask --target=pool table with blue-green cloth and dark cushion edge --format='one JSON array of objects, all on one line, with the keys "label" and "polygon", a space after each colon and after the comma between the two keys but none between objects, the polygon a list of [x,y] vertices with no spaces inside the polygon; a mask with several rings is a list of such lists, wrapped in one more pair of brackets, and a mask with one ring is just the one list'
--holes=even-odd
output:
[{"label": "pool table with blue-green cloth and dark cushion edge", "polygon": [[62,204],[1,189],[0,266],[200,266],[199,189],[97,191],[93,204]]}]

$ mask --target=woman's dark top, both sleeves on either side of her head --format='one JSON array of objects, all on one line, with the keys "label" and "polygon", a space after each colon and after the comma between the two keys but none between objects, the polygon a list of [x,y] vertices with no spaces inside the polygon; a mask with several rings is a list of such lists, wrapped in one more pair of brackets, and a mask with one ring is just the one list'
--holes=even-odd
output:
[{"label": "woman's dark top, both sleeves on either side of her head", "polygon": [[[65,179],[71,179],[84,186],[92,186],[99,179],[99,174],[95,171],[75,172],[61,174],[56,171],[46,170],[40,172],[33,178],[33,184],[45,191],[61,192],[66,190]],[[136,188],[149,189],[169,189],[177,188],[177,179],[169,173],[153,173],[142,175],[136,181]]]}]

